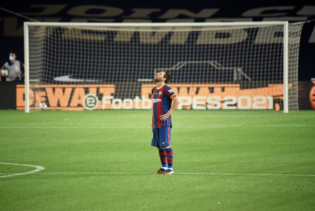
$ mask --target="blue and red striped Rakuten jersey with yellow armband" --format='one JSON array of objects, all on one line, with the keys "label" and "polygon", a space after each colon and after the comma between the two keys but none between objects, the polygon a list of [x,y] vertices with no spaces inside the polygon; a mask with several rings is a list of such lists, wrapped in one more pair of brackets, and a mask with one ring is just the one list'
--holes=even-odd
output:
[{"label": "blue and red striped Rakuten jersey with yellow armband", "polygon": [[152,128],[172,127],[171,116],[164,121],[160,120],[160,116],[169,111],[172,106],[172,100],[174,100],[177,95],[166,84],[161,87],[152,88],[151,93],[153,103]]}]

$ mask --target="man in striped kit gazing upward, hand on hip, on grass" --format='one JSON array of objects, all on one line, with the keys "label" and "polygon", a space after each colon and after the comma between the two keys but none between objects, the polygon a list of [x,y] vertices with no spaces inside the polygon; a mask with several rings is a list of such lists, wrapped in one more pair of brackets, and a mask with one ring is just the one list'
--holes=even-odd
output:
[{"label": "man in striped kit gazing upward, hand on hip, on grass", "polygon": [[[152,174],[174,174],[173,150],[171,147],[171,113],[176,109],[180,100],[173,90],[166,85],[171,76],[167,71],[158,72],[154,78],[157,86],[152,88],[152,142],[157,147],[162,168]],[[173,105],[172,105],[172,101]]]}]

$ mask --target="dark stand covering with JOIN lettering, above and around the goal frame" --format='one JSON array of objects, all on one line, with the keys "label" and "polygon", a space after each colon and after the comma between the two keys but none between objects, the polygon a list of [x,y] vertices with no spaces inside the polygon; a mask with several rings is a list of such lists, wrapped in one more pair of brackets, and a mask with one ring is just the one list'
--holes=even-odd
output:
[{"label": "dark stand covering with JOIN lettering, above and around the goal frame", "polygon": [[24,21],[47,22],[218,22],[306,21],[299,54],[299,81],[315,77],[315,5],[275,1],[48,1],[3,2],[0,10],[0,65],[15,51],[24,61]]}]

